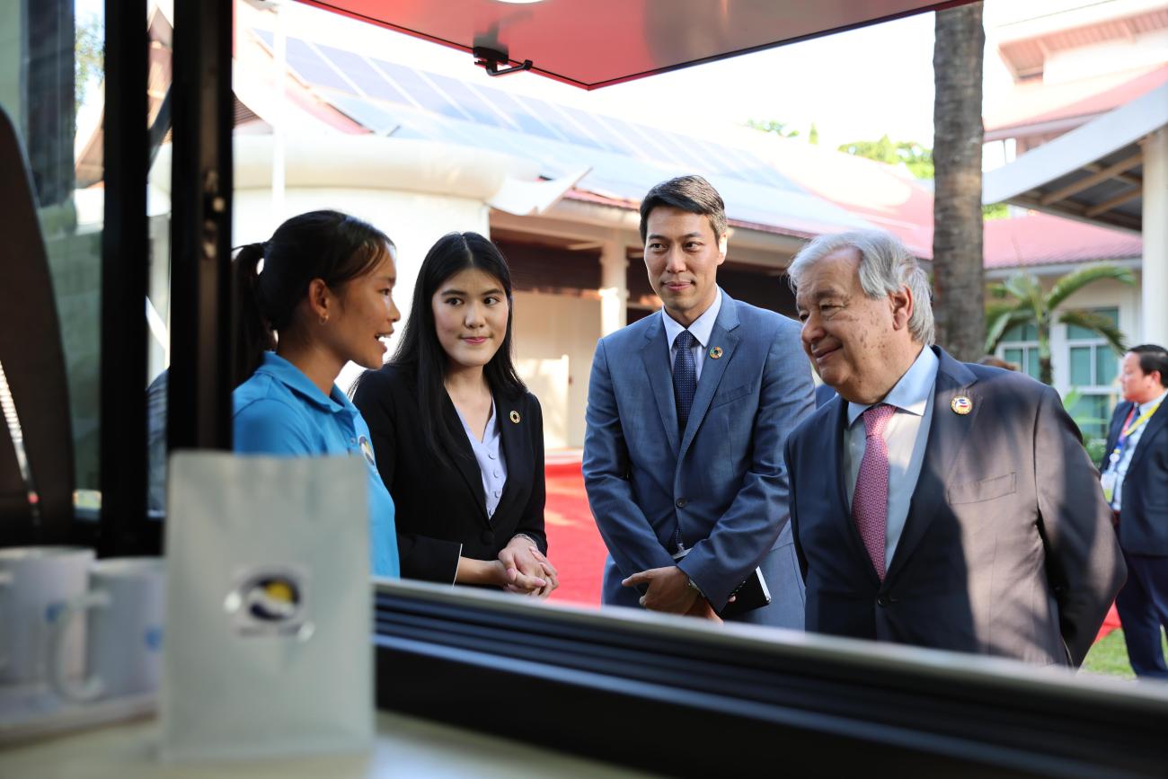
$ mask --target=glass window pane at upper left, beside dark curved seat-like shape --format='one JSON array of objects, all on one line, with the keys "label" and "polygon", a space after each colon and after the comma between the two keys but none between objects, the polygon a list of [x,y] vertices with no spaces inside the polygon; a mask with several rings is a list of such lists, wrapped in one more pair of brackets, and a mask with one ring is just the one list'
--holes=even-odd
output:
[{"label": "glass window pane at upper left, beside dark curved seat-like shape", "polygon": [[90,507],[100,477],[104,40],[100,2],[0,2],[0,106],[32,168],[64,348],[77,502]]}]

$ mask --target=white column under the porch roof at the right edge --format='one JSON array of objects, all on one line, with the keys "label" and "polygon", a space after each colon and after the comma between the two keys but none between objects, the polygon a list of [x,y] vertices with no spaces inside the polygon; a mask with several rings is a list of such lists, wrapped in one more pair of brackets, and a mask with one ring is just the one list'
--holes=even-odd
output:
[{"label": "white column under the porch roof at the right edge", "polygon": [[1168,346],[1168,127],[1143,147],[1143,332],[1140,341]]}]

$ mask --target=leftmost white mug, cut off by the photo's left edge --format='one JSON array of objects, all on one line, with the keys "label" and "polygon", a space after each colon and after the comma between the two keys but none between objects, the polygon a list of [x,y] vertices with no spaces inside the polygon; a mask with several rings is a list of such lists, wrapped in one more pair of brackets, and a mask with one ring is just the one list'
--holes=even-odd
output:
[{"label": "leftmost white mug, cut off by the photo's left edge", "polygon": [[[49,632],[61,604],[85,592],[93,550],[82,547],[0,549],[0,683],[46,679]],[[82,631],[62,637],[62,670],[84,662]]]}]

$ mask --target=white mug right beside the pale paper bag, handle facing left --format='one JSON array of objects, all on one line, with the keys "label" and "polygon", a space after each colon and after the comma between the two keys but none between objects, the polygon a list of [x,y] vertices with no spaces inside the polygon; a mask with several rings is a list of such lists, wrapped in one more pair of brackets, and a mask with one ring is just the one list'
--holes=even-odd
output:
[{"label": "white mug right beside the pale paper bag, handle facing left", "polygon": [[[162,649],[166,563],[161,557],[111,557],[93,563],[89,592],[68,603],[54,625],[49,679],[70,701],[142,695],[158,689]],[[85,667],[68,673],[67,637],[75,617],[89,611]]]}]

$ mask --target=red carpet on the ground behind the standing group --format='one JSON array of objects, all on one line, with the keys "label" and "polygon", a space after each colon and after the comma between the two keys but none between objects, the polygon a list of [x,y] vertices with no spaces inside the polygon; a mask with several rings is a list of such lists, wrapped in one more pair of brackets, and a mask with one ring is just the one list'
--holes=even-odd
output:
[{"label": "red carpet on the ground behind the standing group", "polygon": [[[588,507],[579,454],[549,452],[544,474],[548,482],[544,529],[550,559],[559,571],[559,587],[550,599],[599,606],[607,551]],[[1119,615],[1112,606],[1096,641],[1117,627],[1120,627]]]}]

